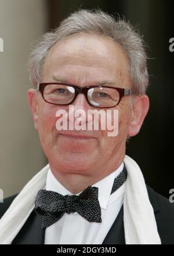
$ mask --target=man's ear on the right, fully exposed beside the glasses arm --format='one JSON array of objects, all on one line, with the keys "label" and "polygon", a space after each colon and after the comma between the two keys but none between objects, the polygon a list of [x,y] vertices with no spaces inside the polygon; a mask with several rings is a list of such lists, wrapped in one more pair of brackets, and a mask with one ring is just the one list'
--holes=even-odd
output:
[{"label": "man's ear on the right, fully exposed beside the glasses arm", "polygon": [[149,99],[147,95],[135,96],[133,98],[132,118],[128,128],[128,136],[135,136],[139,133],[148,109]]}]

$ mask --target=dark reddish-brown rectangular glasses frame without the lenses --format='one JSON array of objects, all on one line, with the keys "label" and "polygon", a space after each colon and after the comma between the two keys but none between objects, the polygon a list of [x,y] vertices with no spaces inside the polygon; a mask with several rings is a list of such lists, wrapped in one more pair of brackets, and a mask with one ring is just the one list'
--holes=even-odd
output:
[{"label": "dark reddish-brown rectangular glasses frame without the lenses", "polygon": [[[48,100],[46,100],[46,99],[44,98],[44,89],[45,89],[46,86],[48,86],[48,85],[50,85],[50,84],[68,85],[68,86],[73,87],[73,88],[75,89],[74,99],[71,100],[71,102],[68,103],[68,104],[56,104],[56,103],[48,102]],[[85,96],[86,101],[88,102],[88,104],[89,104],[90,106],[92,106],[92,107],[97,107],[97,106],[93,106],[93,105],[89,102],[89,100],[88,100],[88,95],[87,95],[89,89],[91,89],[91,88],[96,88],[96,87],[98,87],[98,88],[101,88],[101,87],[102,87],[102,88],[111,88],[111,89],[115,89],[115,90],[118,91],[118,93],[119,93],[119,100],[118,100],[118,103],[115,104],[115,105],[112,106],[112,107],[116,107],[116,106],[119,104],[119,102],[121,101],[121,99],[122,99],[125,95],[131,95],[131,89],[118,88],[118,87],[113,87],[113,86],[93,85],[93,86],[79,87],[79,86],[77,86],[77,85],[63,84],[62,82],[60,82],[60,83],[59,83],[59,82],[42,82],[42,83],[38,83],[38,84],[37,84],[37,90],[38,90],[39,92],[41,92],[42,98],[45,100],[45,102],[50,103],[50,104],[54,104],[54,105],[57,105],[57,106],[67,106],[67,105],[69,105],[69,104],[71,104],[71,103],[74,102],[74,100],[77,98],[77,95],[78,95],[79,93],[83,93],[84,96]],[[97,107],[97,108],[100,108],[100,109],[110,109],[111,107]]]}]

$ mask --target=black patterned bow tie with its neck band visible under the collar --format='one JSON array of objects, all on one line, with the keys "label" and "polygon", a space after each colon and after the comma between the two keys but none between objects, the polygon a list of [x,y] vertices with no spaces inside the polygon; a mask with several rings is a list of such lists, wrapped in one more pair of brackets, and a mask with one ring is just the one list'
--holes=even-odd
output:
[{"label": "black patterned bow tie with its neck band visible under the collar", "polygon": [[[126,181],[126,169],[114,179],[111,194]],[[63,196],[54,191],[40,189],[35,199],[34,211],[42,215],[42,229],[58,221],[66,212],[78,212],[89,222],[102,222],[102,213],[98,200],[98,188],[88,186],[77,195]]]}]

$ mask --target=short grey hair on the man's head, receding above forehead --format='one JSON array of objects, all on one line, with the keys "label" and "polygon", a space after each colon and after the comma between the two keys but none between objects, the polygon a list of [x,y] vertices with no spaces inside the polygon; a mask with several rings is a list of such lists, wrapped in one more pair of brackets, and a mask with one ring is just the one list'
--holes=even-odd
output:
[{"label": "short grey hair on the man's head, receding above forehead", "polygon": [[144,41],[129,23],[108,15],[102,10],[84,10],[71,13],[60,26],[42,36],[28,60],[30,81],[37,85],[41,77],[44,60],[56,42],[76,34],[96,34],[112,39],[125,49],[128,57],[132,93],[142,95],[148,86],[147,55]]}]

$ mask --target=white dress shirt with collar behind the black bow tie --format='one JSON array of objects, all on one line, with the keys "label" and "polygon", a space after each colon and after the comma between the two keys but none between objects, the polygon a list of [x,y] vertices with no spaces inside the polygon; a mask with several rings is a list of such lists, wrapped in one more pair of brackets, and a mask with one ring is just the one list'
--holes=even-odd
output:
[{"label": "white dress shirt with collar behind the black bow tie", "polygon": [[[111,194],[114,179],[120,174],[123,167],[124,163],[122,162],[117,170],[92,185],[99,188],[98,199],[102,211],[102,223],[89,222],[78,212],[64,213],[57,222],[46,228],[45,244],[102,244],[123,204],[125,183]],[[50,169],[46,178],[46,190],[58,192],[63,196],[72,195],[55,178]]]}]

